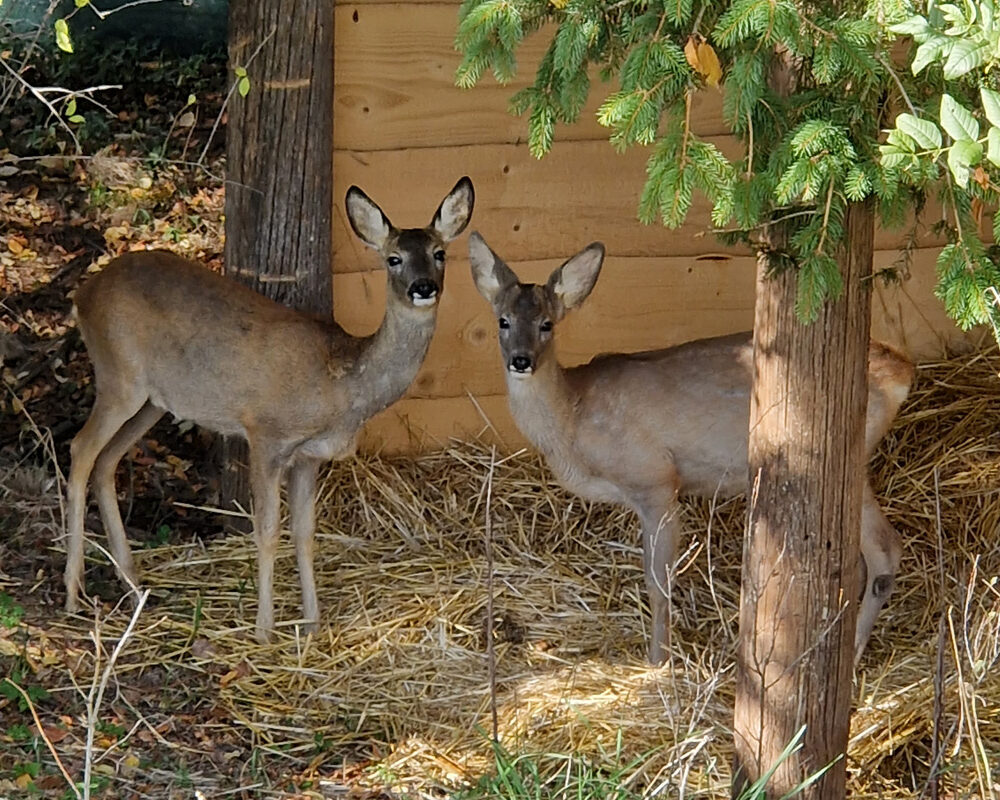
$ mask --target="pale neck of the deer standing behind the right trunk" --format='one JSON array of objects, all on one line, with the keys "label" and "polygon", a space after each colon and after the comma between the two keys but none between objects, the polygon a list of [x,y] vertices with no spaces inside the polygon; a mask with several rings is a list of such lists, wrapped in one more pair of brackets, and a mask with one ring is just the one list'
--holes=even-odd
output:
[{"label": "pale neck of the deer standing behind the right trunk", "polygon": [[546,458],[568,458],[575,424],[576,396],[554,354],[526,378],[507,373],[507,399],[518,428]]}]

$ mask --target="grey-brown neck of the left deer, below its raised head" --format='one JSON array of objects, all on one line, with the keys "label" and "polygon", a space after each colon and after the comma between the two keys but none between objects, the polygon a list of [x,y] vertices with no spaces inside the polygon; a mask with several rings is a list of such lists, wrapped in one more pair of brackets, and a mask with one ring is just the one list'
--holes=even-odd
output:
[{"label": "grey-brown neck of the left deer, below its raised head", "polygon": [[427,355],[436,319],[437,306],[415,308],[389,295],[382,324],[362,340],[352,370],[352,407],[361,421],[403,396]]}]

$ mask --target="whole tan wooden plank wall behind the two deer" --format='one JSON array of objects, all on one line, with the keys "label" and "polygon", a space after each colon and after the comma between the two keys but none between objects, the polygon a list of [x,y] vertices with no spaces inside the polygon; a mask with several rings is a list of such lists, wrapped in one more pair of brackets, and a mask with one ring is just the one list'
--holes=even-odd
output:
[{"label": "whole tan wooden plank wall behind the two deer", "polygon": [[[662,347],[745,330],[753,321],[753,259],[711,235],[696,202],[680,230],[636,220],[647,154],[621,155],[595,119],[594,92],[581,122],[557,131],[552,152],[533,159],[526,122],[507,113],[510,95],[534,74],[544,47],[525,48],[510,86],[492,78],[454,86],[457,2],[341,2],[336,5],[334,96],[334,305],[348,330],[370,333],[382,316],[384,274],[352,234],[343,208],[361,186],[400,227],[426,224],[462,175],[476,187],[479,230],[523,280],[541,281],[563,259],[601,240],[608,258],[587,304],[560,326],[565,363],[599,352]],[[730,153],[721,97],[699,95],[698,132]],[[876,269],[894,263],[903,233],[880,231]],[[961,339],[932,295],[939,242],[925,231],[908,281],[880,287],[874,334],[931,358]],[[495,321],[469,274],[466,237],[449,254],[438,330],[406,398],[372,420],[363,446],[387,452],[441,447],[483,436],[505,449],[523,444],[506,408]]]}]

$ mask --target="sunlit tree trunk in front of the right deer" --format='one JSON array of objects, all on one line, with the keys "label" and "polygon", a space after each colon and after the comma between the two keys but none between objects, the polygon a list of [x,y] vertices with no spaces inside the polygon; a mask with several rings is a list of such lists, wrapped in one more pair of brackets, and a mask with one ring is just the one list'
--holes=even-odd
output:
[{"label": "sunlit tree trunk in front of the right deer", "polygon": [[794,271],[758,258],[750,508],[743,553],[733,796],[803,746],[768,783],[781,797],[845,796],[861,497],[874,209],[848,208],[844,293],[819,319],[795,316]]}]

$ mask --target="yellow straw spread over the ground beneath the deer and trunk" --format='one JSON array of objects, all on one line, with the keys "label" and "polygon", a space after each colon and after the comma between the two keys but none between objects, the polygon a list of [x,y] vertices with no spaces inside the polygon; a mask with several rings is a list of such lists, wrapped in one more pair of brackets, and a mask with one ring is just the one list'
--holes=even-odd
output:
[{"label": "yellow straw spread over the ground beneath the deer and trunk", "polygon": [[[922,367],[873,464],[906,552],[858,673],[855,797],[925,789],[942,613],[943,787],[956,797],[1000,792],[991,785],[1000,782],[998,371],[995,354]],[[456,444],[417,460],[334,465],[318,504],[324,624],[311,640],[289,625],[273,645],[253,642],[249,537],[139,553],[155,603],[119,665],[122,679],[157,661],[217,675],[223,723],[245,726],[289,771],[311,762],[321,777],[342,759],[371,759],[367,780],[417,794],[475,780],[492,764],[490,462],[489,450]],[[728,796],[742,501],[686,507],[674,663],[656,670],[643,660],[632,515],[566,494],[532,454],[499,460],[492,493],[506,748],[584,754],[624,768],[648,793]],[[284,547],[276,613],[287,622],[299,597]],[[105,635],[121,629],[112,620]]]}]

